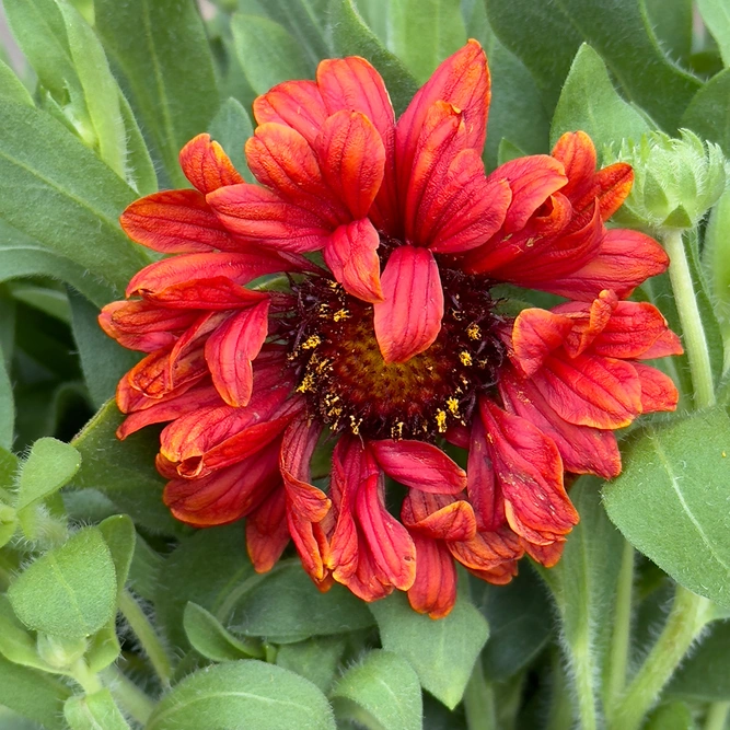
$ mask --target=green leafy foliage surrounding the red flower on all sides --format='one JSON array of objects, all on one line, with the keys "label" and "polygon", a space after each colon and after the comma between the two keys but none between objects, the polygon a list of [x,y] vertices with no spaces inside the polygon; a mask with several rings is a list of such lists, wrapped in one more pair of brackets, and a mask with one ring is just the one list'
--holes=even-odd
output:
[{"label": "green leafy foliage surrounding the red flower on all sides", "polygon": [[[257,576],[240,525],[173,521],[154,434],[114,438],[107,401],[135,355],[95,317],[151,260],[120,211],[185,185],[177,151],[200,131],[248,175],[251,102],[312,78],[322,58],[369,58],[401,112],[440,60],[479,39],[488,169],[572,129],[615,153],[687,127],[730,154],[727,2],[219,0],[204,20],[192,0],[4,0],[4,13],[25,60],[0,65],[3,730],[623,730],[624,685],[672,625],[674,581],[711,603],[646,727],[723,727],[727,194],[684,239],[715,403],[697,402],[686,357],[665,366],[680,410],[631,430],[613,484],[573,485],[581,523],[558,567],[524,561],[506,588],[463,576],[440,622],[402,595],[367,606],[339,587],[320,594],[293,558]],[[665,276],[637,297],[681,331]]]}]

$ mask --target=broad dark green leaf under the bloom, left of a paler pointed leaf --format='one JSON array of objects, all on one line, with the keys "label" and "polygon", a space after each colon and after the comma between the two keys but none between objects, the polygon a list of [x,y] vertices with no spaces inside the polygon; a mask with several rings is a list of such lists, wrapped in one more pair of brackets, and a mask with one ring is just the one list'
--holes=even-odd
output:
[{"label": "broad dark green leaf under the bloom, left of a paler pointed leaf", "polygon": [[341,586],[321,593],[299,563],[281,565],[257,577],[235,604],[230,626],[246,636],[266,636],[277,644],[310,636],[341,634],[372,626],[370,612]]}]

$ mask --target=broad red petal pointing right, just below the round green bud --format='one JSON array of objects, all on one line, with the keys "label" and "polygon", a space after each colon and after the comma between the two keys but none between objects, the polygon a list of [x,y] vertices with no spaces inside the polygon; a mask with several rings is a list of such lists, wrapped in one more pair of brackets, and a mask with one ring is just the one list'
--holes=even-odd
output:
[{"label": "broad red petal pointing right, just below the round green bud", "polygon": [[541,289],[589,302],[603,289],[613,289],[625,299],[641,282],[661,274],[668,266],[667,253],[653,239],[638,231],[616,228],[606,231],[595,258],[573,274],[543,282]]}]

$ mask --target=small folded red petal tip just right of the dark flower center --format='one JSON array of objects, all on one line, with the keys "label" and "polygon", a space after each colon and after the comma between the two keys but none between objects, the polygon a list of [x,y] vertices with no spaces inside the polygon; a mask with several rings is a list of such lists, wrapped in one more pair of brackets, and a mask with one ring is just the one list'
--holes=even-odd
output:
[{"label": "small folded red petal tip just right of the dark flower center", "polygon": [[572,329],[572,321],[546,310],[522,310],[512,327],[514,360],[525,375],[534,375],[560,347]]}]

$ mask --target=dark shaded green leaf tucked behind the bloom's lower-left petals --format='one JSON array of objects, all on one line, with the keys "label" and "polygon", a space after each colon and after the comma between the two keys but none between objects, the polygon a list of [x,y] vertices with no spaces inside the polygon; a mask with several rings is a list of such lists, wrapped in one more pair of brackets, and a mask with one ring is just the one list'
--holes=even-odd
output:
[{"label": "dark shaded green leaf tucked behind the bloom's lower-left petals", "polygon": [[116,403],[109,401],[86,424],[73,440],[83,462],[69,486],[97,489],[152,532],[179,534],[181,523],[162,502],[164,482],[154,468],[157,437],[132,433],[119,441],[115,431],[123,419]]}]

